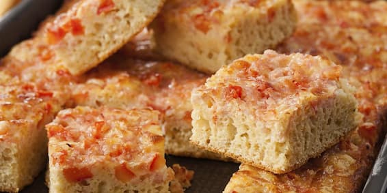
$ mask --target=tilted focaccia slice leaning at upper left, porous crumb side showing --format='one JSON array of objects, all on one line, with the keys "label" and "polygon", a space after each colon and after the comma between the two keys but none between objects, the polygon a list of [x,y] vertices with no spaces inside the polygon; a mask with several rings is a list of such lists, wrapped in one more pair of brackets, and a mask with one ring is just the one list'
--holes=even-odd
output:
[{"label": "tilted focaccia slice leaning at upper left, porous crumb side showing", "polygon": [[[87,0],[67,3],[36,32],[34,50],[46,60],[81,74],[101,63],[141,32],[157,15],[164,0]],[[10,55],[24,61],[33,53]],[[27,56],[26,56],[27,55]]]}]

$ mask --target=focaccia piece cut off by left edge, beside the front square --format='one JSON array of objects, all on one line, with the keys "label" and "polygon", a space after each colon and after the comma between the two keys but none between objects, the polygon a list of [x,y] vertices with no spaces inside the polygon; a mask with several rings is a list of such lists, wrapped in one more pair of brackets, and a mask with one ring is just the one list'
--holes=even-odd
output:
[{"label": "focaccia piece cut off by left edge, beside the front square", "polygon": [[0,96],[0,192],[18,192],[46,165],[44,125],[64,102],[58,93],[23,83],[1,85]]}]

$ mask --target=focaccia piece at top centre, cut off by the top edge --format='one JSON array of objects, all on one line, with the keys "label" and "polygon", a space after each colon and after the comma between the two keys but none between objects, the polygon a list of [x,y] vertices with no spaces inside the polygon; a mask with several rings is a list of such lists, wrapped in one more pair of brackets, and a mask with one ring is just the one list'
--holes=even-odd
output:
[{"label": "focaccia piece at top centre, cut off by the top edge", "polygon": [[157,51],[202,72],[273,48],[293,33],[289,0],[167,1],[152,28]]}]

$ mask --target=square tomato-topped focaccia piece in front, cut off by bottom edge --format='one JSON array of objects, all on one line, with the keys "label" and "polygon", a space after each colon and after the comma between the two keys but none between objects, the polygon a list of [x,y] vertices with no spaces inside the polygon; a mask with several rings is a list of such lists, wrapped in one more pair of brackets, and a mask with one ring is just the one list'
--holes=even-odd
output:
[{"label": "square tomato-topped focaccia piece in front, cut off by bottom edge", "polygon": [[79,106],[46,126],[50,192],[168,192],[159,113]]}]

